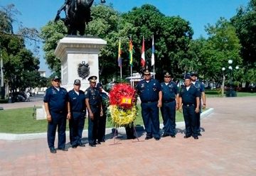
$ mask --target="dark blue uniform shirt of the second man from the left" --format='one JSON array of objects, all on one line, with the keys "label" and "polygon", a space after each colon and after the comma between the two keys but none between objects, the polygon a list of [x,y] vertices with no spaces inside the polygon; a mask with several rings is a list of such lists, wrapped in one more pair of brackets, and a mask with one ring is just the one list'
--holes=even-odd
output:
[{"label": "dark blue uniform shirt of the second man from the left", "polygon": [[72,111],[85,111],[85,92],[82,90],[79,91],[79,95],[74,89],[70,90],[70,92],[68,92],[68,101],[70,101]]}]

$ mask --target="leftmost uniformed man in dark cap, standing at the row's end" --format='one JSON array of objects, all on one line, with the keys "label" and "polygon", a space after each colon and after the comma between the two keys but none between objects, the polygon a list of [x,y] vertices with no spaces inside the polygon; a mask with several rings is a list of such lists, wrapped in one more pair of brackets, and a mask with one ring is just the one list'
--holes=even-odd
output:
[{"label": "leftmost uniformed man in dark cap, standing at the row's end", "polygon": [[66,119],[70,119],[70,109],[68,106],[68,92],[60,87],[60,78],[53,77],[52,86],[46,89],[43,97],[46,108],[48,130],[47,141],[50,153],[56,153],[54,147],[56,128],[58,127],[58,149],[68,151],[65,148],[65,128]]}]

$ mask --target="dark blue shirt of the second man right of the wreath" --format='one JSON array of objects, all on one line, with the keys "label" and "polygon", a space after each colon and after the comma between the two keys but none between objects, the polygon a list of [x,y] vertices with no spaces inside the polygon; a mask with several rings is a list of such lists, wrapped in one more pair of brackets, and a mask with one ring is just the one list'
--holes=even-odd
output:
[{"label": "dark blue shirt of the second man right of the wreath", "polygon": [[177,84],[173,81],[166,85],[165,82],[161,83],[161,91],[163,92],[163,102],[174,101],[176,94],[178,94]]}]

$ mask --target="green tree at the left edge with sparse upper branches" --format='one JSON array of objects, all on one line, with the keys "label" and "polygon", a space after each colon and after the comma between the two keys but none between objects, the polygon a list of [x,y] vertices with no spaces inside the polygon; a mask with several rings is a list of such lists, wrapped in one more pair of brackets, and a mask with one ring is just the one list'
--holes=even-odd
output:
[{"label": "green tree at the left edge with sparse upper branches", "polygon": [[[4,60],[4,78],[12,93],[24,91],[26,87],[36,87],[39,60],[26,49],[26,40],[38,41],[37,31],[33,28],[20,28],[13,31],[13,23],[19,12],[14,4],[0,9],[0,50]],[[35,44],[36,45],[36,44]],[[36,47],[37,48],[37,47]]]}]

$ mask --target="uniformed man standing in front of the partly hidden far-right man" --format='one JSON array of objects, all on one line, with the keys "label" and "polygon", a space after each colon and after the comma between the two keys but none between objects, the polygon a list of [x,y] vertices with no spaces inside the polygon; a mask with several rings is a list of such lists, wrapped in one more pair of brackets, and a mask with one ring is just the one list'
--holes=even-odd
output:
[{"label": "uniformed man standing in front of the partly hidden far-right man", "polygon": [[191,76],[186,75],[185,86],[181,87],[178,100],[178,110],[183,111],[186,126],[186,135],[184,138],[193,136],[193,138],[198,139],[198,133],[196,131],[196,113],[199,112],[199,97],[200,92],[191,84]]}]

